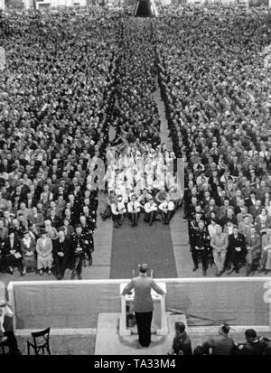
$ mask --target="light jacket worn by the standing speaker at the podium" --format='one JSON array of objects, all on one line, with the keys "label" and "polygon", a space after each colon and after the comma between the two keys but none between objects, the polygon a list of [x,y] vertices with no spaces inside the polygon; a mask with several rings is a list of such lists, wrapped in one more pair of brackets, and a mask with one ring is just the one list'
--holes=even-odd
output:
[{"label": "light jacket worn by the standing speaker at the podium", "polygon": [[152,277],[145,277],[143,275],[133,278],[131,282],[126,285],[122,294],[128,294],[132,289],[135,289],[135,312],[154,311],[154,303],[151,295],[152,289],[158,294],[164,294],[164,291],[154,282]]}]

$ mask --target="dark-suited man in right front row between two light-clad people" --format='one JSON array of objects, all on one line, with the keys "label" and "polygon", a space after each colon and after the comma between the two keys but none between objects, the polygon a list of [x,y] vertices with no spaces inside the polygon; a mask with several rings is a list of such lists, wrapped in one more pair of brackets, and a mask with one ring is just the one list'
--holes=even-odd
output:
[{"label": "dark-suited man in right front row between two light-clad people", "polygon": [[229,235],[229,265],[233,268],[229,269],[228,275],[234,270],[239,273],[239,262],[246,256],[246,239],[245,236],[239,232],[237,226],[233,228],[233,233]]}]

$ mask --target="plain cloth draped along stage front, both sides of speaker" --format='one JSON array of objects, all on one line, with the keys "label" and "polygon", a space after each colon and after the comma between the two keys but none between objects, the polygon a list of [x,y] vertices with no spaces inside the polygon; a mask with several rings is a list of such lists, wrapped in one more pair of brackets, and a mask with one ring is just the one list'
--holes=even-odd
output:
[{"label": "plain cloth draped along stage front, both sides of speaker", "polygon": [[[166,283],[166,310],[212,320],[234,319],[231,325],[268,325],[268,304],[263,301],[265,279],[252,282]],[[119,284],[16,285],[16,329],[96,328],[99,312],[120,312]],[[208,325],[210,323],[201,323]]]}]

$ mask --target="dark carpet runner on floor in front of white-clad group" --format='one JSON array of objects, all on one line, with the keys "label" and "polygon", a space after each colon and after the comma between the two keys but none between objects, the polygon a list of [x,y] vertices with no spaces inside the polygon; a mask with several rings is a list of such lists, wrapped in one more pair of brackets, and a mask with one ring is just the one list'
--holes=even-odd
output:
[{"label": "dark carpet runner on floor in front of white-clad group", "polygon": [[137,227],[125,219],[122,227],[113,228],[110,278],[131,278],[141,263],[154,270],[155,278],[177,277],[169,226],[154,221],[150,227],[143,215]]}]

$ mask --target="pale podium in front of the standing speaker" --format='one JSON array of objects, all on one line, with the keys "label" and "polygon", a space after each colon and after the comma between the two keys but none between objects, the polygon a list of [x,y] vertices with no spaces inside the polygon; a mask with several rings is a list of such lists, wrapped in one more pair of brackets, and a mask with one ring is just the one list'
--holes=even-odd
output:
[{"label": "pale podium in front of the standing speaker", "polygon": [[[151,295],[154,301],[154,313],[152,322],[152,331],[156,332],[158,335],[167,335],[168,325],[165,313],[165,294],[166,286],[165,283],[157,283],[163,290],[164,295],[157,294],[153,289]],[[132,290],[131,294],[122,295],[123,289],[126,284],[120,284],[119,294],[121,298],[121,314],[119,320],[119,335],[126,336],[131,335],[132,331],[126,326],[126,306],[134,302],[135,292]]]}]

